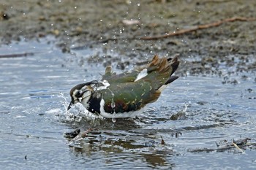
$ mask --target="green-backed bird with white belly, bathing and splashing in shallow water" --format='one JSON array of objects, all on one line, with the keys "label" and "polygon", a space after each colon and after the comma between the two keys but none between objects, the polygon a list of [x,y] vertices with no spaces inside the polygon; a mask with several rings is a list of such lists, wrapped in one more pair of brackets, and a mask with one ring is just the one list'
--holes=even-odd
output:
[{"label": "green-backed bird with white belly, bathing and splashing in shallow water", "polygon": [[146,104],[157,101],[162,90],[178,76],[178,56],[159,58],[154,55],[148,66],[116,74],[111,66],[105,68],[101,80],[75,85],[70,90],[72,105],[83,104],[89,112],[106,118],[135,117]]}]

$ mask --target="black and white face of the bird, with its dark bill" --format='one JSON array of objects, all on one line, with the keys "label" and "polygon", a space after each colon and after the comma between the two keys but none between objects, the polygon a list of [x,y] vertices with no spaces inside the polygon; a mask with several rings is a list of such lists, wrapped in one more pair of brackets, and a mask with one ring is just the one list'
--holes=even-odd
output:
[{"label": "black and white face of the bird, with its dark bill", "polygon": [[67,110],[71,108],[73,104],[81,103],[84,107],[89,108],[88,101],[91,98],[93,89],[90,85],[80,84],[76,85],[70,90],[71,102]]}]

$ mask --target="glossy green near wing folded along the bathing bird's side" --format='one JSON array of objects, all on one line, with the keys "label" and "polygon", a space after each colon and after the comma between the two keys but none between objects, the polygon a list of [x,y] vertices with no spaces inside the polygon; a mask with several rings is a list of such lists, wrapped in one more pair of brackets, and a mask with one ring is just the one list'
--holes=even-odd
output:
[{"label": "glossy green near wing folded along the bathing bird's side", "polygon": [[150,82],[127,82],[113,84],[101,90],[105,100],[105,112],[130,112],[157,101],[160,92],[153,90]]}]

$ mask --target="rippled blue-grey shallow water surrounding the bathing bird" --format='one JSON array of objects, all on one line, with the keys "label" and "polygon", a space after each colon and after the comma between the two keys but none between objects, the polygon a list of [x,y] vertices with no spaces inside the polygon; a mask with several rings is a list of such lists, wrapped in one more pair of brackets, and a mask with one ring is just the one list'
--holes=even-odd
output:
[{"label": "rippled blue-grey shallow water surrounding the bathing bird", "polygon": [[[210,75],[180,77],[142,115],[113,123],[86,119],[80,106],[66,112],[69,89],[104,72],[83,60],[95,52],[61,53],[48,39],[13,43],[0,53],[28,53],[0,58],[0,169],[256,168],[255,145],[242,153],[217,150],[225,140],[255,143],[255,73],[231,75],[236,85]],[[183,116],[171,120],[177,112]],[[80,144],[67,145],[65,132],[91,127]]]}]

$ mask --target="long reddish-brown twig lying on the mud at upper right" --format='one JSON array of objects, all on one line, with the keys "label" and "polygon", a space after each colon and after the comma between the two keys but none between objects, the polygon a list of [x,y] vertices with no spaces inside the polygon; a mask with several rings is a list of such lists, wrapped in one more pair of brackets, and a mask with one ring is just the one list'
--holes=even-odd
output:
[{"label": "long reddish-brown twig lying on the mud at upper right", "polygon": [[143,36],[138,39],[142,39],[142,40],[165,39],[165,38],[168,38],[169,36],[177,36],[177,35],[186,34],[186,33],[192,32],[192,31],[200,30],[200,29],[206,29],[206,28],[220,26],[220,25],[222,25],[222,23],[229,23],[229,22],[234,22],[234,21],[253,21],[253,20],[256,20],[256,18],[243,18],[243,17],[226,18],[225,20],[219,20],[214,23],[208,23],[208,24],[204,24],[204,25],[200,25],[200,26],[195,26],[195,28],[181,29],[179,31],[169,32],[162,36]]}]

